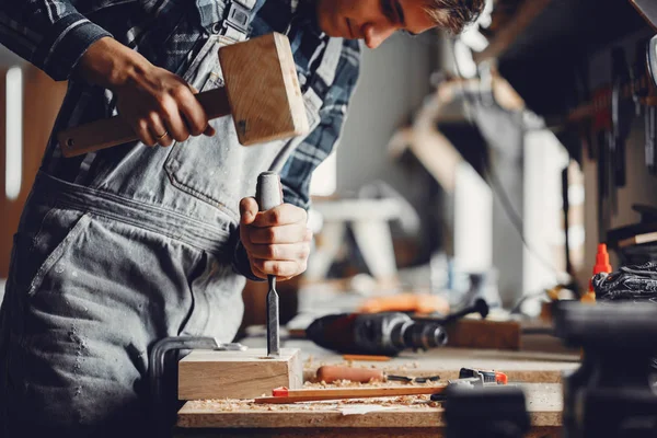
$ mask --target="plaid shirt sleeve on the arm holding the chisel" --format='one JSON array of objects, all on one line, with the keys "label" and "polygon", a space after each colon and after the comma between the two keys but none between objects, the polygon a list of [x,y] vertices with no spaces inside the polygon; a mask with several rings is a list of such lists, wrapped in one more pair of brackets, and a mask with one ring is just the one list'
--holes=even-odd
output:
[{"label": "plaid shirt sleeve on the arm holding the chisel", "polygon": [[356,42],[345,42],[334,82],[320,110],[320,124],[295,149],[280,172],[286,203],[310,208],[312,173],[338,142],[358,74],[358,45]]}]

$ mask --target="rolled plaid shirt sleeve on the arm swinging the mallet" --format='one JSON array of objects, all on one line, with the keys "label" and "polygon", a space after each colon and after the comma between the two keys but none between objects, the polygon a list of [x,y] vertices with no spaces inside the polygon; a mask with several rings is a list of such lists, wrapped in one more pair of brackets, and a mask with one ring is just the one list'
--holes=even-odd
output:
[{"label": "rolled plaid shirt sleeve on the arm swinging the mallet", "polygon": [[89,46],[104,36],[112,34],[69,0],[0,2],[0,43],[54,80],[68,79]]}]

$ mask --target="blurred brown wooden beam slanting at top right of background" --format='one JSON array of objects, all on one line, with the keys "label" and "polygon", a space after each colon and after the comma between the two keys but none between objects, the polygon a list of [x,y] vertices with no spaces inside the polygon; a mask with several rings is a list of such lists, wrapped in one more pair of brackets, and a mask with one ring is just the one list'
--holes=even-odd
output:
[{"label": "blurred brown wooden beam slanting at top right of background", "polygon": [[525,0],[518,12],[493,38],[488,47],[474,53],[476,64],[496,59],[504,54],[531,23],[548,8],[552,0]]}]

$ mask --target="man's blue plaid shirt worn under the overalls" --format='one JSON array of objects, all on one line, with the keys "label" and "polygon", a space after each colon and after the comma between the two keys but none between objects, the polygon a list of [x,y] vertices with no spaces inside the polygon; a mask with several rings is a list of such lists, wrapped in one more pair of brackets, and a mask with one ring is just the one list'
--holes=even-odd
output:
[{"label": "man's blue plaid shirt worn under the overalls", "polygon": [[[152,64],[182,73],[210,33],[224,23],[226,0],[2,0],[0,43],[44,70],[55,80],[69,79],[69,90],[54,132],[116,112],[112,93],[74,76],[74,67],[90,45],[113,36]],[[313,170],[336,143],[346,107],[358,77],[359,45],[330,44],[314,16],[314,1],[257,0],[249,37],[287,33],[302,88],[312,87],[322,101],[320,124],[292,152],[281,171],[285,200],[309,207]],[[333,81],[316,80],[326,50],[338,50]],[[44,169],[80,182],[93,165],[84,157],[64,159],[50,138]]]}]

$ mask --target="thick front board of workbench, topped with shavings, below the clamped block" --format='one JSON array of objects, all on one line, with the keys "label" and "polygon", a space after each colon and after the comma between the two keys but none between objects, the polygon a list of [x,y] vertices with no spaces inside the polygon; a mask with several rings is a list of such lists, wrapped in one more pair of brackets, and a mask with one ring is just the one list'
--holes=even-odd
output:
[{"label": "thick front board of workbench, topped with shavings, below the clamped block", "polygon": [[[533,436],[557,436],[561,429],[561,384],[527,383],[521,387],[527,396]],[[240,407],[221,401],[187,402],[178,413],[177,424],[182,428],[178,431],[184,433],[181,436],[204,437],[437,437],[445,430],[445,411],[441,407],[391,402],[385,411],[349,415],[343,412],[348,406],[354,405],[323,402],[310,406]]]}]

